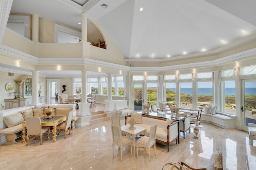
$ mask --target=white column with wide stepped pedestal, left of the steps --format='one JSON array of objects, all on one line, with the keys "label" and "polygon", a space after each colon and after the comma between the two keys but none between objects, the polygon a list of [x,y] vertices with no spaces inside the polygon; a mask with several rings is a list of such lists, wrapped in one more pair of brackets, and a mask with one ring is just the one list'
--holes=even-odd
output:
[{"label": "white column with wide stepped pedestal, left of the steps", "polygon": [[90,114],[90,103],[87,103],[87,71],[82,70],[82,103],[78,103],[78,120],[76,126],[82,127],[90,125],[91,114]]}]

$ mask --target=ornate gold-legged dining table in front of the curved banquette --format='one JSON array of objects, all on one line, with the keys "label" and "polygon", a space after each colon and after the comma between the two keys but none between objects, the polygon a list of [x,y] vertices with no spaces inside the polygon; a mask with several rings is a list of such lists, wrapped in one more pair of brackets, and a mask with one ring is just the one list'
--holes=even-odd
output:
[{"label": "ornate gold-legged dining table in front of the curved banquette", "polygon": [[[49,127],[53,128],[52,129],[52,139],[53,139],[52,143],[56,142],[56,136],[57,136],[56,135],[56,127],[57,127],[57,125],[66,121],[66,117],[67,117],[67,115],[53,115],[53,116],[51,116],[50,119],[46,118],[46,116],[40,117],[41,124],[42,124],[43,127],[49,126]],[[26,121],[22,122],[22,128],[23,128],[23,130],[22,130],[22,133],[23,133],[22,143],[25,143],[26,142],[25,141],[25,139],[26,139]]]}]

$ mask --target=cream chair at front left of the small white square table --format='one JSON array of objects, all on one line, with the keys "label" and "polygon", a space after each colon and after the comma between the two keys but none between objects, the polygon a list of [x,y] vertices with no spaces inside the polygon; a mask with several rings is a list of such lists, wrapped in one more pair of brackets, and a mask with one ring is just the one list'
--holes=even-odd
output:
[{"label": "cream chair at front left of the small white square table", "polygon": [[[119,117],[118,117],[119,118]],[[113,148],[113,157],[115,145],[118,146],[121,150],[121,160],[123,157],[123,148],[131,146],[131,155],[132,155],[132,139],[122,136],[121,127],[118,125],[111,124],[112,131],[112,148]]]}]

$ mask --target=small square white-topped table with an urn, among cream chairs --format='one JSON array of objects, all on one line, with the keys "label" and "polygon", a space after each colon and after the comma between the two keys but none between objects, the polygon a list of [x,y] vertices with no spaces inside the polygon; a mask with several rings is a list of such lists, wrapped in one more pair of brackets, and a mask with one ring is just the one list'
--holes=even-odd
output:
[{"label": "small square white-topped table with an urn, among cream chairs", "polygon": [[140,126],[136,126],[136,125],[134,125],[135,129],[129,129],[129,127],[130,127],[130,125],[121,126],[121,132],[124,135],[132,136],[132,138],[133,138],[132,145],[133,145],[133,151],[134,151],[134,156],[135,156],[136,136],[138,136],[138,135],[145,136],[147,129],[145,127],[140,127]]}]

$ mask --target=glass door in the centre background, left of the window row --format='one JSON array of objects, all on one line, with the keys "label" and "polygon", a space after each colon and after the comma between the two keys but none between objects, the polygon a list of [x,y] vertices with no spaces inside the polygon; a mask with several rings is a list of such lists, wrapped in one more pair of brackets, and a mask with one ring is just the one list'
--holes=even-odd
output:
[{"label": "glass door in the centre background, left of the window row", "polygon": [[142,111],[143,98],[143,84],[134,84],[134,111]]}]

